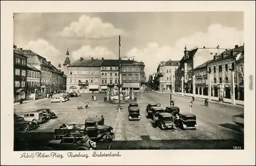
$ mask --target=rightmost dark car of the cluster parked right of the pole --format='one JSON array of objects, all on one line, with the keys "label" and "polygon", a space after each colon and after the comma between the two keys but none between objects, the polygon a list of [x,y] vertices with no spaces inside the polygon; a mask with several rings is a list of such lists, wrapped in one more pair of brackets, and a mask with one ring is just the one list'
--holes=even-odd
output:
[{"label": "rightmost dark car of the cluster parked right of the pole", "polygon": [[179,119],[175,122],[181,129],[196,129],[197,119],[195,114],[190,113],[179,113]]}]

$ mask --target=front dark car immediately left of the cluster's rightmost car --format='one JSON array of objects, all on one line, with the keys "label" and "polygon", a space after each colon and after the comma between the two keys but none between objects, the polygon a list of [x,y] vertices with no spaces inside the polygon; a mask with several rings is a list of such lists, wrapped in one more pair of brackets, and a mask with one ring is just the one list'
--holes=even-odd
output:
[{"label": "front dark car immediately left of the cluster's rightmost car", "polygon": [[160,129],[174,129],[174,118],[170,113],[156,113],[153,115],[155,126]]}]

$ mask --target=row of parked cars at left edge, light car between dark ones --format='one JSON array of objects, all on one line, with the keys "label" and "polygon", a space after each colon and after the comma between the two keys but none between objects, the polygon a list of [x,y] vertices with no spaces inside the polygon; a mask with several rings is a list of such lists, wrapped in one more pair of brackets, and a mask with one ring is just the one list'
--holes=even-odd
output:
[{"label": "row of parked cars at left edge, light car between dark ones", "polygon": [[37,109],[34,112],[14,114],[14,130],[30,131],[38,124],[48,122],[50,119],[57,118],[57,115],[49,108]]}]

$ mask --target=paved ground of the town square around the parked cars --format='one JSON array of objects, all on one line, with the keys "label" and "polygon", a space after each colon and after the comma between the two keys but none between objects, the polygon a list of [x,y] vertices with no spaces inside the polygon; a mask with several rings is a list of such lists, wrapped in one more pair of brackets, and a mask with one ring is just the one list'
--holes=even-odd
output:
[{"label": "paved ground of the town square around the parked cars", "polygon": [[[148,91],[142,96],[138,94],[137,101],[141,109],[140,121],[128,121],[127,104],[123,104],[123,110],[117,118],[117,105],[104,103],[105,94],[96,94],[97,101],[92,101],[92,94],[70,98],[63,103],[41,103],[30,105],[18,105],[14,112],[28,112],[30,109],[49,107],[58,115],[37,129],[30,132],[15,133],[14,150],[38,150],[39,147],[53,139],[53,131],[62,123],[84,123],[86,118],[104,115],[105,125],[115,126],[116,138],[111,143],[110,149],[232,149],[233,146],[243,147],[243,133],[232,123],[231,116],[243,112],[241,106],[221,105],[209,103],[209,107],[203,106],[203,101],[196,99],[192,107],[192,113],[197,116],[199,128],[197,130],[160,130],[151,125],[150,119],[145,118],[145,107],[148,102],[157,101],[162,106],[169,104],[169,94]],[[190,112],[189,98],[173,95],[175,105],[181,112]],[[89,101],[89,109],[78,110],[77,105]],[[26,109],[29,107],[29,110]],[[117,121],[116,121],[117,118]],[[26,139],[25,139],[26,138]],[[26,141],[25,141],[26,140]],[[109,149],[109,144],[97,143],[97,149]]]}]

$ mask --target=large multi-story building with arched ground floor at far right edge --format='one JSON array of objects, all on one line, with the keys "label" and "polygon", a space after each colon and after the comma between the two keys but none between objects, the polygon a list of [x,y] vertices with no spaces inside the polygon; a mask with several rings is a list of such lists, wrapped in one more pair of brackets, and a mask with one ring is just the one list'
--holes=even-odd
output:
[{"label": "large multi-story building with arched ground floor at far right edge", "polygon": [[[212,95],[218,97],[220,93],[219,85],[223,85],[223,97],[231,98],[231,70],[237,73],[236,60],[244,54],[244,46],[234,46],[233,49],[226,49],[218,55],[214,56],[214,60],[207,63],[208,72],[211,76],[211,92]],[[241,57],[242,58],[242,57]],[[239,63],[240,64],[240,63]],[[238,99],[238,84],[236,74],[234,78],[234,98]]]}]

